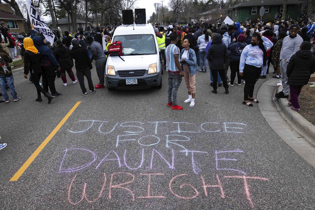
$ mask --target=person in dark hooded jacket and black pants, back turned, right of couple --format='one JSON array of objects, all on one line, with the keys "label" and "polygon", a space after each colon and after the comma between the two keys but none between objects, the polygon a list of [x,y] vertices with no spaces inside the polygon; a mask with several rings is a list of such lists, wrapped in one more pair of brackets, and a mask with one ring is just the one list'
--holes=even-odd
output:
[{"label": "person in dark hooded jacket and black pants, back turned, right of couple", "polygon": [[[224,72],[224,65],[228,59],[228,51],[226,45],[222,43],[221,34],[217,33],[212,40],[211,46],[208,49],[207,59],[211,63],[211,74],[213,77],[213,90],[212,93],[217,93],[217,80],[218,71],[222,78],[223,87],[225,88],[225,93],[229,93],[229,86],[226,81],[226,74]],[[213,71],[215,70],[215,71]],[[218,70],[218,71],[217,71]]]}]

